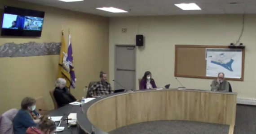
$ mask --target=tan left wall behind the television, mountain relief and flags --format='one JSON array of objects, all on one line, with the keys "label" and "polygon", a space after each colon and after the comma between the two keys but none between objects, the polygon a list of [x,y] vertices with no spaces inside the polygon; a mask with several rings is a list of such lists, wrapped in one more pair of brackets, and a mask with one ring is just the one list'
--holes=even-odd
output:
[{"label": "tan left wall behind the television, mountain relief and flags", "polygon": [[[0,45],[6,42],[61,42],[62,25],[68,43],[68,28],[71,29],[77,77],[77,88],[72,90],[72,94],[77,99],[85,96],[84,86],[98,80],[101,70],[108,73],[108,18],[16,0],[0,1],[0,18],[4,5],[45,11],[45,17],[40,38],[0,36]],[[25,96],[43,96],[48,108],[53,109],[49,90],[54,88],[58,58],[58,55],[0,58],[0,114],[11,108],[19,109]]]}]

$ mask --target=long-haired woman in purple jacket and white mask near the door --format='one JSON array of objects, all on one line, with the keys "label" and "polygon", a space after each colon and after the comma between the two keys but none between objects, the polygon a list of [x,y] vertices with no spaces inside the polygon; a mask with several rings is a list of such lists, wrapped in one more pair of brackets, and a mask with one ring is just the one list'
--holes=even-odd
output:
[{"label": "long-haired woman in purple jacket and white mask near the door", "polygon": [[141,87],[141,89],[156,88],[156,85],[154,83],[154,79],[152,78],[152,75],[151,75],[150,71],[145,72],[144,76],[141,79],[140,87]]}]

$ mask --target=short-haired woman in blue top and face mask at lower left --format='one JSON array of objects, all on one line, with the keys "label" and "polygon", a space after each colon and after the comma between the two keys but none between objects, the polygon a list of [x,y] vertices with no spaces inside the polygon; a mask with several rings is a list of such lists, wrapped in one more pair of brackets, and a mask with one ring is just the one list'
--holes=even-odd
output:
[{"label": "short-haired woman in blue top and face mask at lower left", "polygon": [[21,109],[13,120],[14,134],[26,134],[26,129],[36,126],[40,121],[40,114],[35,111],[35,99],[26,97],[21,102]]}]

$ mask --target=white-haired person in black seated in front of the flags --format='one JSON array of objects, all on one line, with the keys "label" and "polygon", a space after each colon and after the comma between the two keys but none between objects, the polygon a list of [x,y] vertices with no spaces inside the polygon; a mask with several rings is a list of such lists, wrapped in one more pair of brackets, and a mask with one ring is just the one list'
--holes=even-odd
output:
[{"label": "white-haired person in black seated in front of the flags", "polygon": [[76,101],[75,97],[70,93],[69,89],[66,87],[66,80],[63,78],[58,78],[56,80],[53,96],[57,101],[59,107]]}]

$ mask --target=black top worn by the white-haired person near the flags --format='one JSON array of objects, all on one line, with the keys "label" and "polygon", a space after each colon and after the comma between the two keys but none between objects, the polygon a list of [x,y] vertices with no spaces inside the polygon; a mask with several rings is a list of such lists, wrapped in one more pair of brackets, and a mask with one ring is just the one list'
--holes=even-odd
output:
[{"label": "black top worn by the white-haired person near the flags", "polygon": [[71,102],[76,101],[75,97],[69,92],[68,88],[58,88],[56,87],[53,92],[54,98],[57,101],[59,107],[67,105]]}]

